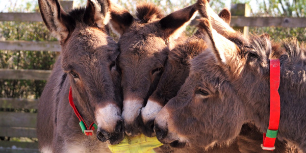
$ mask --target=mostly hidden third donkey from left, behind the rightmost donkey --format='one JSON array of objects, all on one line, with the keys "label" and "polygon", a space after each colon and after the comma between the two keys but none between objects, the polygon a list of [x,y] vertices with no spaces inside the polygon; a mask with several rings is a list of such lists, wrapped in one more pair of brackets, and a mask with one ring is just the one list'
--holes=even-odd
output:
[{"label": "mostly hidden third donkey from left, behind the rightmost donkey", "polygon": [[[227,24],[230,24],[231,13],[227,9],[223,9],[218,16],[224,20]],[[141,132],[148,137],[155,135],[153,127],[154,120],[160,109],[162,109],[167,102],[173,98],[180,87],[184,84],[189,74],[190,63],[189,60],[200,54],[207,48],[206,41],[202,39],[202,31],[199,29],[194,36],[189,38],[182,44],[177,45],[171,50],[168,56],[168,60],[165,64],[164,72],[161,76],[160,82],[154,93],[148,98],[146,107],[141,110]],[[151,104],[150,104],[151,103]],[[253,136],[249,136],[252,134]],[[263,134],[248,123],[243,125],[242,131],[237,140],[231,145],[219,144],[215,145],[207,152],[259,152],[262,151],[260,146],[254,146],[249,144],[260,144]],[[284,142],[277,140],[277,152],[290,152],[294,150],[291,146],[287,146]],[[252,147],[250,147],[252,146]],[[174,149],[169,147],[169,150],[175,150],[184,152],[185,149],[192,152],[203,152],[201,147],[192,147],[184,149]],[[162,151],[167,150],[166,147],[162,147]],[[186,151],[187,151],[186,150]],[[240,151],[239,151],[240,150]],[[293,151],[292,151],[293,152]]]}]

